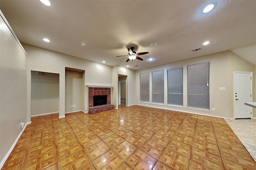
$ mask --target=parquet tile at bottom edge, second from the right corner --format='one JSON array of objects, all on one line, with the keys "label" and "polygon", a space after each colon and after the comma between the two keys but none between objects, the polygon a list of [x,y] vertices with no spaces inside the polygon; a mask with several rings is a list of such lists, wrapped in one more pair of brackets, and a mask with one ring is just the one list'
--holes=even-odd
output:
[{"label": "parquet tile at bottom edge, second from the right corner", "polygon": [[192,148],[191,159],[214,170],[223,170],[221,158],[214,154],[209,154],[208,152]]}]

